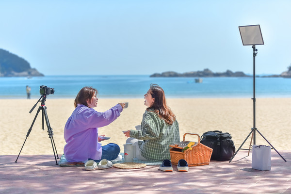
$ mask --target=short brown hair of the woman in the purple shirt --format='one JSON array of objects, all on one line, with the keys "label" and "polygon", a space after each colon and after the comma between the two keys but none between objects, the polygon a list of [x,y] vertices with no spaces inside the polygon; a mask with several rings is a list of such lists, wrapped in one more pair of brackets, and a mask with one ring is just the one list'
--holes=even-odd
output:
[{"label": "short brown hair of the woman in the purple shirt", "polygon": [[85,106],[88,106],[87,104],[87,100],[88,99],[92,99],[92,97],[94,97],[94,95],[97,95],[98,94],[98,91],[93,88],[93,87],[83,87],[79,93],[77,94],[77,97],[75,98],[75,102],[74,102],[74,105],[75,105],[75,108],[78,106],[77,104],[83,104]]}]

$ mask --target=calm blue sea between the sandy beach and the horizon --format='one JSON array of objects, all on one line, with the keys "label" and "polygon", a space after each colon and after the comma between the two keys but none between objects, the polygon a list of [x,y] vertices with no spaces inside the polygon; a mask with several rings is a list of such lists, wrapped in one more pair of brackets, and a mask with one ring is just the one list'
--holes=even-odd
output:
[{"label": "calm blue sea between the sandy beach and the horizon", "polygon": [[151,78],[149,75],[65,75],[44,77],[1,77],[0,98],[27,98],[26,85],[31,87],[31,98],[40,98],[40,86],[54,88],[48,98],[75,98],[84,86],[98,90],[102,98],[144,98],[151,83],[159,84],[167,98],[252,98],[291,97],[288,78]]}]

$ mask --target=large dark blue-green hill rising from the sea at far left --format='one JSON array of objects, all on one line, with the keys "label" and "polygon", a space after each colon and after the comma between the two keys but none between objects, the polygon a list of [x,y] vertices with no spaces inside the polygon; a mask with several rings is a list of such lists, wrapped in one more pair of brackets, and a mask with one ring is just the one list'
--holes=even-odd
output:
[{"label": "large dark blue-green hill rising from the sea at far left", "polygon": [[0,49],[0,77],[38,77],[44,76],[16,54]]}]

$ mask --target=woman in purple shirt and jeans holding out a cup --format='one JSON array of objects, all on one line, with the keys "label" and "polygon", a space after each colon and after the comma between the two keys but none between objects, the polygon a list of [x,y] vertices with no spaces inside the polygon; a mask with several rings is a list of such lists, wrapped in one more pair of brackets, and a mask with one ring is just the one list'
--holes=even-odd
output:
[{"label": "woman in purple shirt and jeans holding out a cup", "polygon": [[97,107],[97,94],[95,88],[83,87],[75,98],[75,110],[68,118],[64,131],[64,154],[68,162],[114,160],[119,155],[118,145],[101,146],[99,142],[103,139],[98,137],[98,128],[109,125],[120,116],[125,103],[116,104],[105,112],[97,112],[93,109]]}]

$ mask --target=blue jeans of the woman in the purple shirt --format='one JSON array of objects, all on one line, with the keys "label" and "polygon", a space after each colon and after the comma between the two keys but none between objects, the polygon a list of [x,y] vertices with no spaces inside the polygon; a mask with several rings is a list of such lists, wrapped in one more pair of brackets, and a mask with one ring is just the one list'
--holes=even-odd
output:
[{"label": "blue jeans of the woman in the purple shirt", "polygon": [[[102,146],[102,156],[100,160],[94,160],[95,162],[100,162],[102,159],[106,159],[108,161],[112,161],[117,158],[120,153],[120,147],[117,144],[107,144]],[[89,159],[93,160],[93,159]]]}]

